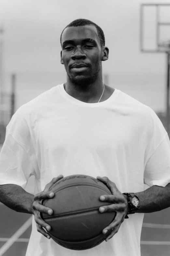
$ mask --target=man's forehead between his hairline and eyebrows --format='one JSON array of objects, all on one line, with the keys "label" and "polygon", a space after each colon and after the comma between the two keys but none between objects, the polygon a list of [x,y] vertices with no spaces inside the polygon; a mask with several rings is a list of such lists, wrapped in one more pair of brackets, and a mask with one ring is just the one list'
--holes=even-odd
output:
[{"label": "man's forehead between his hairline and eyebrows", "polygon": [[92,38],[96,42],[99,42],[98,33],[95,26],[86,25],[67,27],[63,31],[61,43],[63,43],[65,40],[81,40],[85,38]]}]

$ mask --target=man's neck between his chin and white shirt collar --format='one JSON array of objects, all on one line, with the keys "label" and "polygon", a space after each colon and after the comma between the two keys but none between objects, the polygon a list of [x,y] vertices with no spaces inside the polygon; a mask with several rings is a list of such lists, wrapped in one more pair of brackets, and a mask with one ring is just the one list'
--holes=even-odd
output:
[{"label": "man's neck between his chin and white shirt collar", "polygon": [[97,86],[89,85],[86,87],[79,87],[72,84],[65,84],[65,91],[70,96],[87,103],[100,102],[105,91],[105,85],[102,82]]}]

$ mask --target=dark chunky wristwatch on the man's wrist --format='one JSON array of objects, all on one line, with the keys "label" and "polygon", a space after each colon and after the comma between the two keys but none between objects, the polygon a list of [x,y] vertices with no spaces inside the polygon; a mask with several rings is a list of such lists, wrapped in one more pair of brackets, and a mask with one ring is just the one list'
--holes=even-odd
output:
[{"label": "dark chunky wristwatch on the man's wrist", "polygon": [[[122,193],[123,195],[127,196],[129,212],[127,214],[137,213],[140,207],[139,197],[136,196],[134,193]],[[126,215],[125,218],[128,218]]]}]

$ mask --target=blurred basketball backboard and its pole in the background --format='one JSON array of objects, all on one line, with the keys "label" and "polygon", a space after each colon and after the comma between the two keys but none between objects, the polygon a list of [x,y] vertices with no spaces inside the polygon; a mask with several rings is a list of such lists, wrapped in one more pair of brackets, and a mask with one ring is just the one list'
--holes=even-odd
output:
[{"label": "blurred basketball backboard and its pole in the background", "polygon": [[[162,20],[161,9],[170,8],[170,4],[141,4],[140,8],[140,50],[142,53],[166,53],[166,131],[170,135],[170,107],[169,107],[169,94],[170,94],[170,36],[169,33],[163,33],[163,29],[170,27],[170,19],[167,21]],[[149,16],[147,19],[147,11],[152,10],[153,17]],[[151,14],[151,13],[150,13]],[[168,15],[169,16],[169,15]],[[150,33],[146,28],[151,25],[149,20],[154,21],[154,43],[150,47],[147,40],[150,42]],[[150,25],[149,25],[150,24]],[[153,30],[153,29],[152,29]],[[147,32],[146,32],[147,31]],[[167,31],[167,30],[166,30]],[[149,36],[148,36],[149,35]],[[165,36],[164,36],[165,35]],[[168,39],[169,38],[169,39]]]}]

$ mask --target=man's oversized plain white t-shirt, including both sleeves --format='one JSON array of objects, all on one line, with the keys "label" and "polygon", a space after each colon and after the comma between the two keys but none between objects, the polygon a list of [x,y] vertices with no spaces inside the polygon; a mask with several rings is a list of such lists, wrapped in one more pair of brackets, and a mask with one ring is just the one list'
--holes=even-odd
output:
[{"label": "man's oversized plain white t-shirt, including both sleeves", "polygon": [[[170,141],[148,106],[115,89],[105,101],[85,103],[60,84],[22,105],[7,125],[0,153],[0,184],[25,189],[35,175],[34,192],[63,174],[107,176],[123,192],[140,192],[170,182]],[[108,242],[69,250],[36,229],[26,256],[139,256],[144,213],[129,215]]]}]

